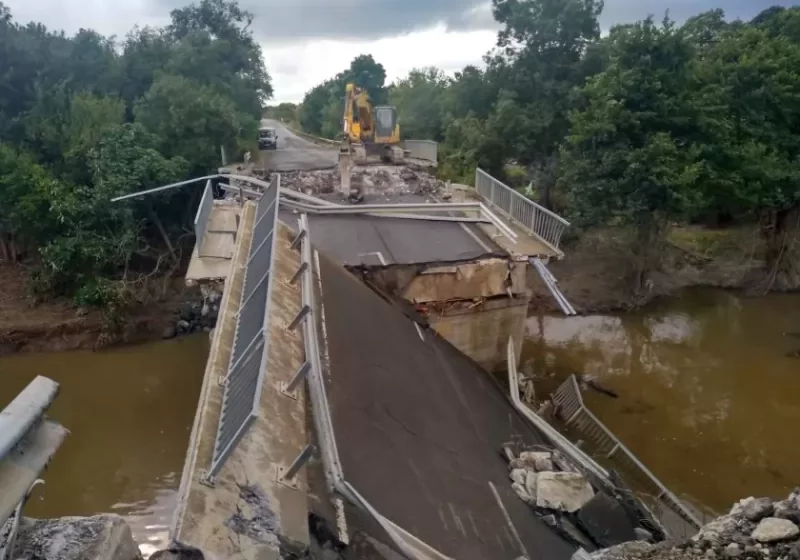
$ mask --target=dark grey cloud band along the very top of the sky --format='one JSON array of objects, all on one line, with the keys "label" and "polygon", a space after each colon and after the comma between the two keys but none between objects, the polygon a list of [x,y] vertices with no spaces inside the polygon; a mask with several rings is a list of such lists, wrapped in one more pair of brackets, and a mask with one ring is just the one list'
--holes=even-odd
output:
[{"label": "dark grey cloud band along the very top of the sky", "polygon": [[[124,35],[134,25],[163,25],[169,12],[193,0],[2,0],[18,21],[40,21],[74,33],[91,27],[106,35]],[[489,0],[240,0],[256,16],[253,31],[266,44],[311,39],[373,40],[444,24],[451,30],[497,29]],[[750,19],[771,5],[792,0],[606,0],[601,26],[636,21],[652,14],[684,21],[722,8],[729,18]],[[447,48],[446,44],[442,48]]]}]

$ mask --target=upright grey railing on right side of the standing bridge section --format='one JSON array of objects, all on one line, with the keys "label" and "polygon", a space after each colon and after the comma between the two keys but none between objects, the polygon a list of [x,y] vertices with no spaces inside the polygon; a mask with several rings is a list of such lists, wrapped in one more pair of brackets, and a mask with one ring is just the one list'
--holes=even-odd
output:
[{"label": "upright grey railing on right side of the standing bridge section", "polygon": [[564,230],[569,227],[567,220],[522,196],[481,168],[475,169],[475,190],[507,218],[560,253],[558,246]]}]

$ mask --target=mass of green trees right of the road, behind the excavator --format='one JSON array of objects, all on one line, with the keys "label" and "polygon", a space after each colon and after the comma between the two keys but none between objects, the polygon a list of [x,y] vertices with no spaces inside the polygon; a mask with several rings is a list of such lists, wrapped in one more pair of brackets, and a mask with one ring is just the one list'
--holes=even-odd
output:
[{"label": "mass of green trees right of the road, behind the excavator", "polygon": [[[385,88],[405,138],[440,142],[443,178],[471,183],[481,166],[532,182],[578,226],[625,228],[637,291],[687,221],[758,224],[764,287],[800,287],[800,8],[601,36],[601,0],[492,5],[502,29],[485,68],[423,68]],[[335,130],[345,74],[306,95],[309,132]]]}]

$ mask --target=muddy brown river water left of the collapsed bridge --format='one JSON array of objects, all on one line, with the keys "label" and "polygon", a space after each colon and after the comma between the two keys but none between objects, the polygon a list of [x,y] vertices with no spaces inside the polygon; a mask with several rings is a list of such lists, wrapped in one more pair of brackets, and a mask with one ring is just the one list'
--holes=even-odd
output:
[{"label": "muddy brown river water left of the collapsed bridge", "polygon": [[0,358],[0,408],[44,375],[61,384],[48,414],[70,430],[25,515],[118,513],[146,555],[166,544],[208,349],[197,334]]}]

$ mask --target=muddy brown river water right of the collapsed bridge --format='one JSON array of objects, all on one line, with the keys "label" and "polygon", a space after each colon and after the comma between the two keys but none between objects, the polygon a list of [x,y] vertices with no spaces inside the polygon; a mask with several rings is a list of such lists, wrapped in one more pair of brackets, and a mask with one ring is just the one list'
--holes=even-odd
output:
[{"label": "muddy brown river water right of the collapsed bridge", "polygon": [[587,406],[679,496],[723,511],[800,485],[800,295],[691,290],[635,313],[530,317],[539,394],[586,373]]}]

